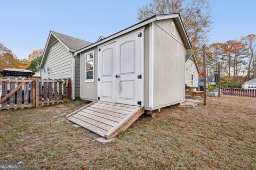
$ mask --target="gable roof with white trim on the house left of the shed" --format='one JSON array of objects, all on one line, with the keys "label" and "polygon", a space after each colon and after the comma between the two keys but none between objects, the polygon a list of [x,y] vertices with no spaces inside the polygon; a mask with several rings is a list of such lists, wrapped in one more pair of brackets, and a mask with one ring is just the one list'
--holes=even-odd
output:
[{"label": "gable roof with white trim on the house left of the shed", "polygon": [[68,52],[75,52],[76,50],[78,50],[84,46],[88,46],[88,45],[92,44],[88,41],[84,41],[84,40],[81,40],[78,38],[66,36],[59,32],[50,31],[49,36],[47,38],[47,43],[44,47],[43,56],[42,56],[39,66],[44,64],[44,62],[46,60],[45,56],[49,53],[48,47],[57,40],[60,41],[60,43],[67,48]]}]

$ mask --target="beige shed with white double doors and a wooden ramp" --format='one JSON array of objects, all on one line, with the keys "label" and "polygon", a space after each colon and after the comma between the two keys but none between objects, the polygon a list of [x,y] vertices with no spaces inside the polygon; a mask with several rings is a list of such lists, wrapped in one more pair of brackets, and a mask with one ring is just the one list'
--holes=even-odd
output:
[{"label": "beige shed with white double doors and a wooden ramp", "polygon": [[179,14],[154,15],[87,45],[75,52],[80,97],[149,111],[180,103],[187,49],[191,44]]}]

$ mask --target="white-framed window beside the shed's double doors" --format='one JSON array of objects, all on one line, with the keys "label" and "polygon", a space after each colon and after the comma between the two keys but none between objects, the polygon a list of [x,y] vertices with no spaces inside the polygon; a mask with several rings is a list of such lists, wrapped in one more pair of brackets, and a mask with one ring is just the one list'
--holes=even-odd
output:
[{"label": "white-framed window beside the shed's double doors", "polygon": [[94,81],[94,50],[85,54],[85,82]]}]

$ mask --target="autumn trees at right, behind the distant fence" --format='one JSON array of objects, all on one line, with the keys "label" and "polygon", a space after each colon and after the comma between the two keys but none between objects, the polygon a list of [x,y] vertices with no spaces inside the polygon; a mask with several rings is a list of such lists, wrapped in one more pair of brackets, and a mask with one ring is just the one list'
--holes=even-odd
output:
[{"label": "autumn trees at right, behind the distant fence", "polygon": [[222,79],[229,86],[237,87],[244,81],[256,78],[256,35],[206,47],[207,75],[217,71],[218,62],[221,63]]}]

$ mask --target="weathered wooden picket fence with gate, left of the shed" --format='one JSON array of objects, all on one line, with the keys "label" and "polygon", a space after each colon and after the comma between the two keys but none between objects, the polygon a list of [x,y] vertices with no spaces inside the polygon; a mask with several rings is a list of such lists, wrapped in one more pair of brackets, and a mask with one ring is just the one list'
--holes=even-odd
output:
[{"label": "weathered wooden picket fence with gate, left of the shed", "polygon": [[3,78],[0,79],[0,94],[0,109],[63,103],[71,100],[71,80]]}]

